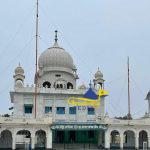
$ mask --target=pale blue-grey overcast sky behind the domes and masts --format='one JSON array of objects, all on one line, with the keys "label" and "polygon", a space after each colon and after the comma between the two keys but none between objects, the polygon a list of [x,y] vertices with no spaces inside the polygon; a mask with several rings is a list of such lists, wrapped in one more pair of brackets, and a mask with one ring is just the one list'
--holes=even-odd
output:
[{"label": "pale blue-grey overcast sky behind the domes and masts", "polygon": [[[35,0],[0,3],[0,113],[12,105],[13,73],[20,62],[25,84],[35,72]],[[78,68],[78,85],[88,85],[99,67],[104,74],[106,111],[127,114],[127,56],[131,68],[131,112],[147,111],[150,90],[150,0],[40,0],[39,55],[54,42],[68,51]]]}]

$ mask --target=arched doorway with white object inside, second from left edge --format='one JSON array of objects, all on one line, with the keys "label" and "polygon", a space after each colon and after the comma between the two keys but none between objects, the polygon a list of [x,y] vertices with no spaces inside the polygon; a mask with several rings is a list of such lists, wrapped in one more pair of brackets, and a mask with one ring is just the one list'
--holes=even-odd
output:
[{"label": "arched doorway with white object inside, second from left edge", "polygon": [[16,148],[30,149],[31,148],[31,133],[28,130],[20,130],[16,134]]}]

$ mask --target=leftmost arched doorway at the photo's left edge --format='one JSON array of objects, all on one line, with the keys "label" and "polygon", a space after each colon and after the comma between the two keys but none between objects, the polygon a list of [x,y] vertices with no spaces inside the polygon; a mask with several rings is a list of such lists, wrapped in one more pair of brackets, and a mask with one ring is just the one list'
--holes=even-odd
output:
[{"label": "leftmost arched doorway at the photo's left edge", "polygon": [[4,130],[0,135],[0,149],[12,148],[12,133],[9,130]]}]

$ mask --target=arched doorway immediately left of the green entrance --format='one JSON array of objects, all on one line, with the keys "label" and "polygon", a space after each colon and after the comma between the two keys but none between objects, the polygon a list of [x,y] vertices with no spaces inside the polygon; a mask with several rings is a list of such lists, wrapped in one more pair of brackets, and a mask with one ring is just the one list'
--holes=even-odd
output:
[{"label": "arched doorway immediately left of the green entrance", "polygon": [[35,148],[46,148],[46,132],[38,130],[35,133]]}]

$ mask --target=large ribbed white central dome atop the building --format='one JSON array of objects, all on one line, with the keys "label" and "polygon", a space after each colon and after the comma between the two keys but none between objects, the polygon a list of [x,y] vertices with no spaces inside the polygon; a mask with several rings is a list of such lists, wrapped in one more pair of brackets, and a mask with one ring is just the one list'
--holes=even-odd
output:
[{"label": "large ribbed white central dome atop the building", "polygon": [[38,65],[39,68],[60,67],[73,69],[74,67],[71,55],[61,48],[57,41],[40,55]]}]

